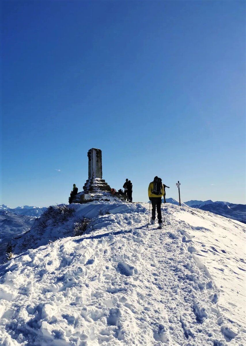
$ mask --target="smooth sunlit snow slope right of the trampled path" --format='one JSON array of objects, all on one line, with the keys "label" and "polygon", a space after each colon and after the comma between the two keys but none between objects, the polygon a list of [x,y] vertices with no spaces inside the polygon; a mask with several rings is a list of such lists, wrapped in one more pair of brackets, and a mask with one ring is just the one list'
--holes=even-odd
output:
[{"label": "smooth sunlit snow slope right of the trampled path", "polygon": [[207,213],[206,220],[201,222],[201,215],[204,213],[200,210],[188,210],[179,212],[177,217],[189,225],[187,231],[192,239],[189,246],[195,248],[193,258],[205,264],[220,289],[220,310],[228,319],[243,325],[246,307],[246,227],[242,227],[238,221],[219,216],[215,218],[212,213]]}]

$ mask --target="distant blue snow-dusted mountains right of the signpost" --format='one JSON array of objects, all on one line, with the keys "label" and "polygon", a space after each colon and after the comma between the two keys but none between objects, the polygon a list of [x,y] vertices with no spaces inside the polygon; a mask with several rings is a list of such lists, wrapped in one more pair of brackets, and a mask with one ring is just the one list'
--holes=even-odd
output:
[{"label": "distant blue snow-dusted mountains right of the signpost", "polygon": [[215,214],[225,216],[230,219],[234,219],[246,224],[246,205],[234,204],[230,202],[216,201],[188,201],[185,202],[192,208],[199,208],[202,210],[211,211]]}]

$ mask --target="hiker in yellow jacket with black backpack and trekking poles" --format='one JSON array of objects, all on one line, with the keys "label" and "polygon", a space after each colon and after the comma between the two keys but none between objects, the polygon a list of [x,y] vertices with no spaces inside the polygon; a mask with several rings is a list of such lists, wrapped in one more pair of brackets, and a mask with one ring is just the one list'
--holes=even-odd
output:
[{"label": "hiker in yellow jacket with black backpack and trekking poles", "polygon": [[161,181],[161,178],[158,176],[154,177],[154,181],[149,184],[149,200],[152,204],[152,218],[150,220],[151,225],[155,222],[155,209],[157,209],[157,218],[159,227],[162,227],[162,219],[161,219],[161,197],[164,194],[164,188]]}]

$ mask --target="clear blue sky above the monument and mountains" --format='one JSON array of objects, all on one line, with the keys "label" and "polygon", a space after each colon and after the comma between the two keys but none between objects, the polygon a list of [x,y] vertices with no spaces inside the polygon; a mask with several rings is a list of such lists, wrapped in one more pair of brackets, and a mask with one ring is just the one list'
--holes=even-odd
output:
[{"label": "clear blue sky above the monument and mountains", "polygon": [[[245,203],[244,1],[3,1],[2,203],[103,178]],[[58,171],[60,170],[60,171]]]}]

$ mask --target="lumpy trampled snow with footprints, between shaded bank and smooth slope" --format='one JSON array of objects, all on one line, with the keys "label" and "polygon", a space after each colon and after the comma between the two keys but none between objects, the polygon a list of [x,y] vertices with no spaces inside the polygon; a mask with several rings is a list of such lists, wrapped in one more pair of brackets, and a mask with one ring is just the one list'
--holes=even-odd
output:
[{"label": "lumpy trampled snow with footprints, between shaded bank and smooth slope", "polygon": [[159,230],[146,228],[147,204],[104,205],[114,213],[94,218],[89,234],[0,266],[1,345],[246,345],[246,329],[221,314],[219,289],[193,258],[179,207],[165,206]]}]

